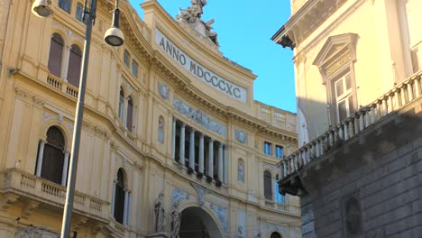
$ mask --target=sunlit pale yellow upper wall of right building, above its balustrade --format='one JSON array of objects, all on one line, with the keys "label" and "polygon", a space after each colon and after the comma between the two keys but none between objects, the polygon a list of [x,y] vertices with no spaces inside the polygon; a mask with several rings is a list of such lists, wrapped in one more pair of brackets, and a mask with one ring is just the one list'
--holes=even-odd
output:
[{"label": "sunlit pale yellow upper wall of right building, above its balustrade", "polygon": [[422,69],[420,1],[290,3],[272,40],[294,49],[299,145]]}]

